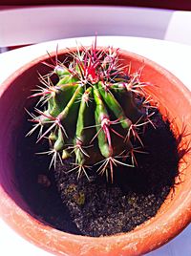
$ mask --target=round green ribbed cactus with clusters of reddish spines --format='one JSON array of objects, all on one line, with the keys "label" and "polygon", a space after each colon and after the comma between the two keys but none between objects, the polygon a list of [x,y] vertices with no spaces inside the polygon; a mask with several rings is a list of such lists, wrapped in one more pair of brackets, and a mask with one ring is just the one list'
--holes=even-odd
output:
[{"label": "round green ribbed cactus with clusters of reddish spines", "polygon": [[[40,75],[41,85],[31,97],[39,96],[37,104],[46,106],[30,114],[34,123],[31,135],[40,128],[38,139],[48,138],[53,155],[50,167],[74,156],[77,178],[97,165],[99,174],[113,181],[118,164],[137,164],[135,139],[140,146],[138,129],[151,122],[149,99],[140,81],[140,71],[131,74],[131,65],[123,67],[118,59],[119,49],[99,49],[96,41],[90,48],[69,52],[69,59],[60,62],[50,55],[53,71]],[[53,83],[52,75],[57,76]],[[151,113],[151,112],[149,112]],[[43,154],[44,154],[43,153]]]}]

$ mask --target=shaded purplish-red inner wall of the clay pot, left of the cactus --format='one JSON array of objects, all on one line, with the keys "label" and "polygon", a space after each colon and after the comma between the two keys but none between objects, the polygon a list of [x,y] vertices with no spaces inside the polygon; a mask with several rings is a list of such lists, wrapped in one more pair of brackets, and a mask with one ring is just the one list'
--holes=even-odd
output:
[{"label": "shaded purplish-red inner wall of the clay pot, left of the cactus", "polygon": [[[44,68],[43,68],[44,70]],[[10,77],[10,82],[0,98],[0,184],[11,200],[21,208],[30,212],[30,207],[25,203],[18,189],[16,176],[16,150],[19,149],[19,135],[27,115],[25,108],[29,108],[32,100],[28,97],[31,90],[39,83],[37,71],[42,71],[42,64],[34,65],[30,70],[22,70]],[[22,156],[21,156],[22,158]]]}]

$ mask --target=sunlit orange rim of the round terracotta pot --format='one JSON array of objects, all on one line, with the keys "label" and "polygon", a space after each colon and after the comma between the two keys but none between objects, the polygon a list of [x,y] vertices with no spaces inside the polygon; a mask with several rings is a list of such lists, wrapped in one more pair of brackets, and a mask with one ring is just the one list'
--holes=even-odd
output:
[{"label": "sunlit orange rim of the round terracotta pot", "polygon": [[[74,51],[74,49],[76,48],[71,48],[70,51]],[[67,49],[60,50],[58,51],[58,54],[67,53],[67,51]],[[132,58],[138,58],[140,60],[143,59],[144,64],[153,66],[155,69],[159,71],[161,75],[167,75],[169,79],[173,80],[173,83],[176,85],[181,94],[185,97],[185,100],[188,101],[189,104],[191,105],[191,92],[180,82],[180,80],[177,77],[175,77],[175,75],[172,75],[170,72],[160,67],[159,64],[157,64],[156,62],[149,60],[146,57],[140,56],[137,53],[130,53],[124,50],[120,50],[120,53],[128,55]],[[55,52],[51,53],[51,55],[52,54],[55,54]],[[24,74],[28,69],[32,68],[32,66],[36,65],[38,62],[42,62],[47,58],[47,54],[37,57],[33,59],[32,62],[24,65],[22,68],[18,69],[13,75],[7,78],[6,81],[4,81],[3,84],[0,86],[0,97],[9,88],[14,79]],[[14,203],[11,200],[11,198],[7,195],[7,193],[4,191],[2,186],[0,186],[0,202],[0,215],[7,224],[11,225],[11,227],[13,227],[22,237],[25,237],[29,239],[32,243],[52,252],[54,252],[54,249],[48,243],[49,238],[53,239],[53,245],[56,243],[61,243],[64,239],[65,241],[68,241],[68,243],[71,243],[71,241],[73,241],[75,244],[76,241],[80,241],[81,246],[85,246],[87,243],[89,243],[92,246],[101,246],[103,249],[106,249],[104,248],[106,244],[111,247],[115,247],[118,244],[124,247],[124,251],[126,248],[131,247],[133,245],[135,245],[136,248],[137,244],[139,243],[139,252],[145,253],[152,250],[153,248],[157,248],[160,245],[167,243],[170,239],[172,239],[178,233],[180,233],[180,231],[191,221],[191,190],[189,193],[187,193],[187,195],[185,195],[182,203],[179,205],[179,208],[177,208],[177,210],[173,214],[165,215],[164,213],[165,218],[163,218],[162,215],[160,215],[158,219],[156,219],[156,217],[153,217],[150,220],[146,221],[144,224],[138,225],[138,227],[136,227],[134,230],[128,233],[121,233],[105,237],[87,237],[69,234],[54,229],[51,226],[41,224],[27,212],[22,210],[16,203]],[[18,219],[23,218],[23,223],[25,225],[24,230],[23,226],[17,224],[13,218],[10,218],[10,216],[8,215],[8,212],[10,211],[13,212],[17,217],[19,215],[20,217]],[[156,222],[158,223],[158,225],[156,225]],[[175,223],[179,223],[179,226],[176,228],[174,227]],[[35,231],[31,233],[26,232],[26,230],[30,230],[34,226]],[[163,232],[163,230],[165,230],[165,232]],[[39,241],[37,238],[33,237],[35,232],[39,234],[44,233],[44,245],[42,244],[42,241]],[[149,242],[149,240],[151,241],[154,234],[155,243],[152,242],[152,245],[150,245],[151,243]],[[144,239],[148,241],[145,243],[143,242]],[[137,241],[137,244],[135,244],[135,241]],[[149,245],[149,248],[146,248],[145,245]],[[133,250],[135,249],[133,248]],[[60,255],[65,254],[61,253]]]}]

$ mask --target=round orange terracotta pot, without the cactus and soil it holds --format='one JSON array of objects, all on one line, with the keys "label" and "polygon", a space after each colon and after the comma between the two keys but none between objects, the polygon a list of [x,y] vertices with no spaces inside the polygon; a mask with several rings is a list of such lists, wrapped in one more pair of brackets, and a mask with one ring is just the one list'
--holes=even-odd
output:
[{"label": "round orange terracotta pot, without the cactus and soil it holds", "polygon": [[[59,52],[62,58],[65,51]],[[54,55],[55,53],[53,53]],[[144,66],[142,79],[154,85],[150,93],[159,103],[159,110],[173,120],[172,129],[179,136],[183,127],[187,135],[181,145],[191,140],[191,93],[174,75],[158,64],[134,53],[121,51],[124,63],[131,62],[132,70]],[[72,235],[41,224],[29,214],[15,177],[15,145],[24,107],[31,89],[38,83],[37,73],[46,74],[48,67],[41,64],[48,56],[41,56],[11,75],[0,87],[0,216],[17,233],[34,245],[55,255],[70,256],[131,256],[156,249],[174,238],[191,221],[191,159],[189,154],[180,161],[181,182],[159,209],[158,214],[133,231],[109,237]],[[181,151],[182,153],[182,151]]]}]

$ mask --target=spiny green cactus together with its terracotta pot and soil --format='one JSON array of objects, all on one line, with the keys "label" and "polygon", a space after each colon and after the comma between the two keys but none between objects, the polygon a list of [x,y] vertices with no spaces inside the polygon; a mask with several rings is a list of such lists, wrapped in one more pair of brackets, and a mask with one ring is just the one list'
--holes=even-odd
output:
[{"label": "spiny green cactus together with its terracotta pot and soil", "polygon": [[[182,181],[190,175],[190,126],[181,121],[182,102],[189,110],[190,93],[174,75],[134,53],[99,48],[95,41],[91,47],[42,56],[9,81],[9,88],[10,83],[18,98],[22,92],[23,100],[15,100],[22,112],[19,117],[26,119],[25,108],[33,124],[29,139],[38,130],[34,146],[25,140],[39,150],[35,160],[46,161],[51,169],[38,173],[35,182],[44,185],[43,195],[54,182],[65,214],[70,215],[62,217],[64,228],[53,225],[36,216],[17,192],[14,201],[21,210],[13,208],[11,214],[22,222],[26,218],[28,232],[16,222],[11,225],[22,235],[56,255],[140,255],[166,243],[190,222],[190,181]],[[1,102],[11,95],[9,91]],[[188,114],[185,119],[190,118]],[[9,129],[14,127],[12,122]],[[19,151],[19,160],[28,158],[29,150],[24,151]],[[11,168],[7,166],[10,174]],[[23,171],[19,185],[27,176],[29,172]],[[11,194],[9,181],[2,177]],[[25,186],[30,190],[28,183]],[[185,199],[180,201],[182,194]],[[49,201],[40,197],[40,204]],[[2,210],[5,219],[11,208],[12,201]],[[74,229],[66,228],[65,219]]]}]

